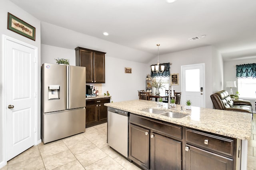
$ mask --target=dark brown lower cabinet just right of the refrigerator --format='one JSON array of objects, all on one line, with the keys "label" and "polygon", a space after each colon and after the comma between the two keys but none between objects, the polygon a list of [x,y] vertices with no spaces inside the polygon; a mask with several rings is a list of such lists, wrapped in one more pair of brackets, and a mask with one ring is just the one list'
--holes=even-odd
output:
[{"label": "dark brown lower cabinet just right of the refrigerator", "polygon": [[104,103],[109,102],[110,98],[86,100],[86,127],[107,122],[108,107]]}]

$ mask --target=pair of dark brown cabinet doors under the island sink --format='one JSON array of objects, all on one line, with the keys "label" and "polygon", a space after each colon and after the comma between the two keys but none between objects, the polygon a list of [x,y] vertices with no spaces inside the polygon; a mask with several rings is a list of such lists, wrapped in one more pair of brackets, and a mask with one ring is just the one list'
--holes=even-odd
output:
[{"label": "pair of dark brown cabinet doors under the island sink", "polygon": [[130,124],[130,159],[145,170],[181,170],[181,142]]}]

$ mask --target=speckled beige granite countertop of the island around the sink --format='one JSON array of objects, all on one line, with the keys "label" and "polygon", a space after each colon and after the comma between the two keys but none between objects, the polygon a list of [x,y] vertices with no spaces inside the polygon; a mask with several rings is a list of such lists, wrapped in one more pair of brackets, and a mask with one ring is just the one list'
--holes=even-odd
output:
[{"label": "speckled beige granite countertop of the island around the sink", "polygon": [[[174,123],[176,125],[191,127],[227,137],[250,140],[251,136],[252,114],[250,113],[207,109],[193,106],[191,110],[186,110],[184,106],[184,111],[180,111],[181,105],[176,105],[176,108],[167,109],[166,103],[164,104],[163,108],[160,108],[157,107],[157,102],[147,100],[131,100],[107,103],[104,105],[128,111],[137,115],[151,117],[161,121]],[[141,111],[142,109],[147,108],[172,111],[175,113],[186,114],[188,116],[177,119]]]}]

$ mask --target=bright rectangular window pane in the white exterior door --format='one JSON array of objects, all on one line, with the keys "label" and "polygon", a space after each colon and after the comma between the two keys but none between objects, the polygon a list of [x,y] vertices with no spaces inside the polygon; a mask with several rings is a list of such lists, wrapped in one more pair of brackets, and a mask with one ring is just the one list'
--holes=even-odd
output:
[{"label": "bright rectangular window pane in the white exterior door", "polygon": [[186,70],[186,92],[200,92],[200,69]]}]

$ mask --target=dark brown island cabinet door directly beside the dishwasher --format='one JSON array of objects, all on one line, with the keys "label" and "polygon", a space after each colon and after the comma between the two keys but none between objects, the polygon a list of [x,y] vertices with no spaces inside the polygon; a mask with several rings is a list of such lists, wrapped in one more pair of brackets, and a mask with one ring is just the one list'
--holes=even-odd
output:
[{"label": "dark brown island cabinet door directly beside the dishwasher", "polygon": [[149,130],[130,124],[129,158],[139,166],[149,169]]}]

